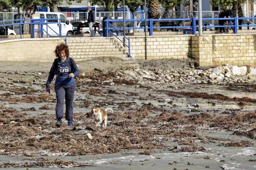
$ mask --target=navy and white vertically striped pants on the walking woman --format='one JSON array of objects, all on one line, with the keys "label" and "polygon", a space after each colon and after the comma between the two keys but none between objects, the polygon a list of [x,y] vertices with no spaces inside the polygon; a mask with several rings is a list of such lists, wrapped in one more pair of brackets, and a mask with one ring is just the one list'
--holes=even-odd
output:
[{"label": "navy and white vertically striped pants on the walking woman", "polygon": [[54,86],[57,104],[55,107],[56,119],[63,118],[63,104],[64,104],[64,97],[66,100],[66,112],[65,112],[65,119],[66,120],[73,120],[73,99],[74,99],[74,92],[76,90],[76,83],[72,83],[68,86],[55,84]]}]

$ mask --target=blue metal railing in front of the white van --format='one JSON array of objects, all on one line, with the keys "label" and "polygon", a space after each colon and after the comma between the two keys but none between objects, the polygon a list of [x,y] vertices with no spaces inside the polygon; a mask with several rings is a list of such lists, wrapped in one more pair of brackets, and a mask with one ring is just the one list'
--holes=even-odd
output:
[{"label": "blue metal railing in front of the white van", "polygon": [[[22,22],[25,20],[29,20],[30,22]],[[58,20],[59,22],[48,22],[48,20]],[[14,21],[18,21],[18,22],[14,22]],[[0,21],[0,26],[13,26],[13,25],[20,25],[20,38],[22,38],[22,25],[25,24],[32,24],[32,37],[35,38],[35,31],[40,31],[40,36],[41,38],[43,38],[43,34],[44,32],[50,37],[52,37],[50,34],[48,34],[48,24],[59,24],[59,34],[56,33],[51,27],[49,27],[50,29],[52,29],[52,31],[58,35],[59,37],[61,37],[61,22],[60,22],[60,18],[55,18],[55,19],[13,19],[13,20],[8,20],[8,22],[13,22],[12,24],[3,24],[1,25],[1,23],[6,22],[6,21]],[[35,25],[40,25],[39,29],[35,29]],[[43,28],[43,25],[46,25],[46,31]]]}]

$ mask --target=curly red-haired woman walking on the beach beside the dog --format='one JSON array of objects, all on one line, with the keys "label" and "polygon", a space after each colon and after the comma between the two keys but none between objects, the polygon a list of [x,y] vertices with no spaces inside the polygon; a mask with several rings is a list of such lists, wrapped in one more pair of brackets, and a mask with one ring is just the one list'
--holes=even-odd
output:
[{"label": "curly red-haired woman walking on the beach beside the dog", "polygon": [[74,92],[76,89],[76,82],[74,77],[79,75],[79,70],[76,66],[76,62],[69,57],[68,45],[65,43],[60,43],[55,48],[55,56],[50,70],[47,82],[46,82],[46,91],[50,93],[50,83],[56,74],[55,80],[55,93],[57,104],[55,107],[56,127],[61,127],[61,119],[63,118],[63,104],[64,97],[66,100],[66,112],[65,119],[68,120],[68,126],[73,126],[73,99]]}]

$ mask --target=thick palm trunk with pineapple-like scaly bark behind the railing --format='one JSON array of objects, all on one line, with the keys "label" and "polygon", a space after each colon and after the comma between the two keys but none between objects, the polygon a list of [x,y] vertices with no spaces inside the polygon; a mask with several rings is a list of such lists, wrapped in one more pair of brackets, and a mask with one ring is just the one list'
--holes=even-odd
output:
[{"label": "thick palm trunk with pineapple-like scaly bark behind the railing", "polygon": [[[148,18],[160,19],[161,17],[161,8],[159,0],[150,0],[148,2]],[[160,27],[159,21],[153,22],[153,27]],[[154,29],[160,30],[160,29]]]}]

